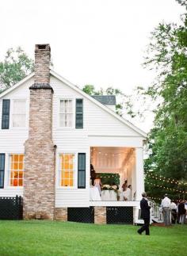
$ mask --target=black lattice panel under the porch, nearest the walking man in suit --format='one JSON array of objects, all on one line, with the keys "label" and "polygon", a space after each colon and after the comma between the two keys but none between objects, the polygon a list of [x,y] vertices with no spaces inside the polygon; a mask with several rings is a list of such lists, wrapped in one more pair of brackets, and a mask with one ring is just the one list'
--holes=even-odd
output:
[{"label": "black lattice panel under the porch, nearest the walking man in suit", "polygon": [[107,224],[133,224],[133,207],[106,207]]}]

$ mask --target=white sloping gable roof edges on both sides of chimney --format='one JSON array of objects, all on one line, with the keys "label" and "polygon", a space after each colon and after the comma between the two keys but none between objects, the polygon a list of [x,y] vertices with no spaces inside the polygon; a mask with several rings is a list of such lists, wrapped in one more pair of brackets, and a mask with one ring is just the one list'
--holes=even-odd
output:
[{"label": "white sloping gable roof edges on both sides of chimney", "polygon": [[[82,94],[83,97],[86,97],[88,100],[92,101],[95,105],[98,105],[101,109],[104,109],[107,113],[115,117],[117,120],[120,120],[123,124],[126,124],[129,128],[132,128],[135,132],[139,133],[140,136],[143,136],[145,139],[147,138],[147,133],[143,132],[141,129],[137,128],[134,124],[129,122],[128,120],[125,120],[123,117],[120,117],[115,112],[113,112],[112,109],[109,109],[107,106],[103,105],[101,102],[97,101],[95,98],[91,97],[89,94],[86,94],[81,90],[78,86],[74,86],[71,82],[69,82],[66,78],[63,78],[62,76],[55,73],[55,71],[50,71],[50,74],[53,75],[55,78],[59,79],[59,81],[65,83],[67,86],[71,87],[71,89],[78,92],[78,94]],[[22,79],[20,82],[17,82],[15,85],[11,86],[9,89],[5,90],[0,94],[0,98],[4,97],[6,94],[9,94],[12,90],[16,89],[17,87],[21,86],[24,82],[27,82],[30,78],[34,76],[34,72],[24,79]]]}]

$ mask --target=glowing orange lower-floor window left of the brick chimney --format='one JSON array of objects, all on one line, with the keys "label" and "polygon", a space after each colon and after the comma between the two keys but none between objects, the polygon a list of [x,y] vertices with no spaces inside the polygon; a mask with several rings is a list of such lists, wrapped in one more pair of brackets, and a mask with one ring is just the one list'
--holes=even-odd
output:
[{"label": "glowing orange lower-floor window left of the brick chimney", "polygon": [[22,186],[24,174],[24,155],[10,155],[10,185]]}]

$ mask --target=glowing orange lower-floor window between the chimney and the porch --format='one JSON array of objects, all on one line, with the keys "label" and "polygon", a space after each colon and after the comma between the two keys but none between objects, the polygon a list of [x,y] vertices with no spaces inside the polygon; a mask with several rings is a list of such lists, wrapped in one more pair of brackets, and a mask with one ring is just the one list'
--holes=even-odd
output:
[{"label": "glowing orange lower-floor window between the chimney and the porch", "polygon": [[62,154],[59,157],[59,185],[74,186],[74,154]]}]

